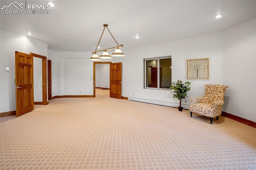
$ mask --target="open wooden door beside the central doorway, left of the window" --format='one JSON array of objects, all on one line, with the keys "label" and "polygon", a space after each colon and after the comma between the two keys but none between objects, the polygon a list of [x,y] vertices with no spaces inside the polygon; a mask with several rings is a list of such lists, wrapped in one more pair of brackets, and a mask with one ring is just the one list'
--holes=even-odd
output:
[{"label": "open wooden door beside the central doorway, left of the window", "polygon": [[110,63],[110,97],[122,99],[122,63]]}]

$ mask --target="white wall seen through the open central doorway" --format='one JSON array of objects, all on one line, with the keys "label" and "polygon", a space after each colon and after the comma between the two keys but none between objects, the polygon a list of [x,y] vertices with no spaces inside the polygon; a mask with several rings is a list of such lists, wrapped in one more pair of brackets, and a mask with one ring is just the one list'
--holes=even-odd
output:
[{"label": "white wall seen through the open central doorway", "polygon": [[95,86],[110,88],[110,64],[95,64]]}]

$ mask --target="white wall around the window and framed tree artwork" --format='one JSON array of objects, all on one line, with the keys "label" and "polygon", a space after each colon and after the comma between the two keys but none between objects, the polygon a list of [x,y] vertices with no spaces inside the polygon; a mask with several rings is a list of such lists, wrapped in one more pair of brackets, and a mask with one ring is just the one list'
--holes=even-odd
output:
[{"label": "white wall around the window and framed tree artwork", "polygon": [[[172,81],[178,79],[191,82],[189,98],[202,96],[205,84],[223,83],[223,38],[222,33],[214,33],[193,38],[186,38],[167,43],[148,45],[136,49],[122,51],[126,57],[116,57],[115,62],[122,62],[122,96],[138,97],[150,100],[165,101],[178,105],[178,100],[173,99],[168,90],[144,89],[143,88],[143,59],[150,57],[172,56]],[[186,59],[210,58],[210,79],[193,80],[186,79]],[[134,94],[134,96],[133,96]]]}]

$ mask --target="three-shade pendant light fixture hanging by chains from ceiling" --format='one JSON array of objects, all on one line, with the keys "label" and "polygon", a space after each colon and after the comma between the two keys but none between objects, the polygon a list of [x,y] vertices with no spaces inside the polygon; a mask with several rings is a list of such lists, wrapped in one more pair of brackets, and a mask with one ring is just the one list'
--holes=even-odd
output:
[{"label": "three-shade pendant light fixture hanging by chains from ceiling", "polygon": [[[105,28],[106,28],[106,29],[108,30],[109,34],[112,36],[113,40],[116,42],[117,46],[116,46],[116,47],[107,48],[107,49],[102,49],[102,50],[100,50],[100,51],[96,51],[97,48],[98,48],[98,46],[99,46],[99,44],[100,44],[100,40],[99,40],[99,42],[98,42],[98,44],[97,44],[97,46],[96,46],[95,51],[92,52],[93,56],[90,58],[90,60],[91,60],[91,61],[101,61],[102,59],[112,59],[112,57],[124,57],[124,56],[126,56],[124,53],[122,53],[122,51],[121,51],[121,49],[120,49],[121,47],[124,47],[124,45],[122,45],[122,44],[119,45],[119,44],[118,44],[118,42],[116,41],[116,39],[114,38],[114,36],[113,36],[112,33],[110,32],[110,30],[108,29],[108,24],[103,24],[103,26],[104,26],[104,29],[103,29],[103,31],[102,31],[102,33],[101,33],[100,40],[101,40],[101,38],[102,38],[102,36],[103,36],[103,33],[104,33],[104,31],[105,31]],[[116,49],[116,50],[114,51],[114,53],[112,53],[112,55],[109,55],[109,53],[108,53],[108,50],[110,50],[110,49]],[[99,56],[97,55],[97,53],[102,52],[102,51],[104,51],[104,52],[103,52],[102,55],[100,55],[100,57],[99,57]]]}]

